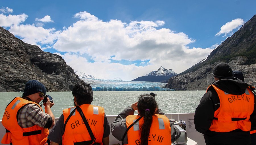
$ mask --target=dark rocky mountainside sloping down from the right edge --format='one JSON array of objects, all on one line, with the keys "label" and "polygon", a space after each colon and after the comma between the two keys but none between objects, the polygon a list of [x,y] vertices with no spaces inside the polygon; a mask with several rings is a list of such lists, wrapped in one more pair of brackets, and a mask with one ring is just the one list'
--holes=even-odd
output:
[{"label": "dark rocky mountainside sloping down from the right edge", "polygon": [[256,15],[214,49],[207,59],[168,80],[166,88],[206,90],[214,82],[212,70],[220,62],[243,72],[245,82],[256,86]]}]

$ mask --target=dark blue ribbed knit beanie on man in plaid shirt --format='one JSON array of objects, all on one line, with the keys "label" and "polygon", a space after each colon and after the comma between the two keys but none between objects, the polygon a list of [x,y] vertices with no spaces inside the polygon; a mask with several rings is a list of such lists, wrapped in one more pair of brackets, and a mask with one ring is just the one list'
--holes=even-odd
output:
[{"label": "dark blue ribbed knit beanie on man in plaid shirt", "polygon": [[46,94],[46,88],[45,86],[38,82],[37,80],[29,80],[26,83],[24,93],[22,94],[22,97],[29,96],[31,94],[35,94],[37,92],[42,92],[44,95]]}]

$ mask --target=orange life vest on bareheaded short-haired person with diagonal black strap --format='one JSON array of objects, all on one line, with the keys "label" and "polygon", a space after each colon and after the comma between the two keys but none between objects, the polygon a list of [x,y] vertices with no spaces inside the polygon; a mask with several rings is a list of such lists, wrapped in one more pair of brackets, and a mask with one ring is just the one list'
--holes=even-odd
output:
[{"label": "orange life vest on bareheaded short-haired person with diagonal black strap", "polygon": [[[79,107],[82,109],[82,112],[90,125],[92,133],[96,138],[96,142],[103,144],[104,108],[90,104],[83,104]],[[69,114],[75,108],[76,107],[72,107],[63,110],[64,123],[67,122],[64,134],[62,136],[63,145],[73,145],[75,142],[86,142],[91,140],[82,117],[77,110],[75,110],[73,115],[69,118],[69,120],[67,120]]]}]

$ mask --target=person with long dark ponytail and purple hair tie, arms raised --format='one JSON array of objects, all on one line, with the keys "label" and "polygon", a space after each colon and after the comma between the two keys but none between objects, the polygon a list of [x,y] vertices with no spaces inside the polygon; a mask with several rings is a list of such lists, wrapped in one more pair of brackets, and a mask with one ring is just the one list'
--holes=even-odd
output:
[{"label": "person with long dark ponytail and purple hair tie, arms raised", "polygon": [[[125,108],[111,124],[112,135],[123,144],[171,144],[180,135],[165,115],[154,114],[158,105],[153,96],[140,95],[138,102]],[[138,110],[138,115],[134,111]]]}]

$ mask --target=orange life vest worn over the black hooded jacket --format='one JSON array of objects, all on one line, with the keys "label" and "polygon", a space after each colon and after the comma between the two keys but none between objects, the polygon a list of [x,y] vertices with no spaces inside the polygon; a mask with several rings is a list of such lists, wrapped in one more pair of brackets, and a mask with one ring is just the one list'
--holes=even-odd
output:
[{"label": "orange life vest worn over the black hooded jacket", "polygon": [[230,132],[235,129],[250,131],[249,119],[254,108],[252,91],[247,88],[242,95],[232,95],[214,85],[210,86],[216,90],[220,98],[220,107],[214,112],[214,119],[209,130],[215,132]]}]

